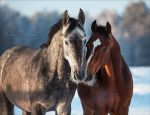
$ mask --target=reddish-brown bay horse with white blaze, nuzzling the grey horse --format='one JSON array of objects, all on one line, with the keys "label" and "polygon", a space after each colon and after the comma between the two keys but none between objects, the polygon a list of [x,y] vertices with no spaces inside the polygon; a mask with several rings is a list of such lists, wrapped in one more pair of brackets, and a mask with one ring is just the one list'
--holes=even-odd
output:
[{"label": "reddish-brown bay horse with white blaze, nuzzling the grey horse", "polygon": [[128,115],[132,75],[111,25],[98,26],[95,20],[91,30],[84,59],[86,79],[77,88],[84,115]]}]

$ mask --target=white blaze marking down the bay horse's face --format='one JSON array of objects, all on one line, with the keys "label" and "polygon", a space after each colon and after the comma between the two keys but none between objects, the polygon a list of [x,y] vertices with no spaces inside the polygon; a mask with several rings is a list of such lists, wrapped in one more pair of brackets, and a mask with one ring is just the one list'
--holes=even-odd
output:
[{"label": "white blaze marking down the bay horse's face", "polygon": [[87,64],[86,64],[86,68],[85,68],[86,77],[87,77],[87,68],[88,68],[88,65],[89,65],[89,63],[90,63],[90,61],[91,61],[93,55],[94,55],[94,50],[95,50],[95,48],[96,48],[97,46],[100,46],[100,45],[101,45],[100,39],[97,38],[97,40],[95,40],[95,41],[93,42],[93,45],[94,45],[94,47],[93,47],[92,53],[91,53],[89,59],[87,60]]}]

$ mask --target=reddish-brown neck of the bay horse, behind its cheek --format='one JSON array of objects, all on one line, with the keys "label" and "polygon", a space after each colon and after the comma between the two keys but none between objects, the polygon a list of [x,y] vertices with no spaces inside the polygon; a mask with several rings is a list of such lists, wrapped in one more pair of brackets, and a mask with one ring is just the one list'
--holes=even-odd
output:
[{"label": "reddish-brown neck of the bay horse, behind its cheek", "polygon": [[105,74],[105,76],[108,77],[107,78],[108,81],[110,81],[111,83],[115,83],[116,79],[121,79],[119,78],[121,74],[119,72],[121,72],[120,69],[122,66],[121,63],[122,56],[120,46],[116,41],[116,39],[113,37],[112,34],[110,34],[109,37],[110,37],[110,57],[104,69],[102,69],[102,71],[105,71],[102,74]]}]

